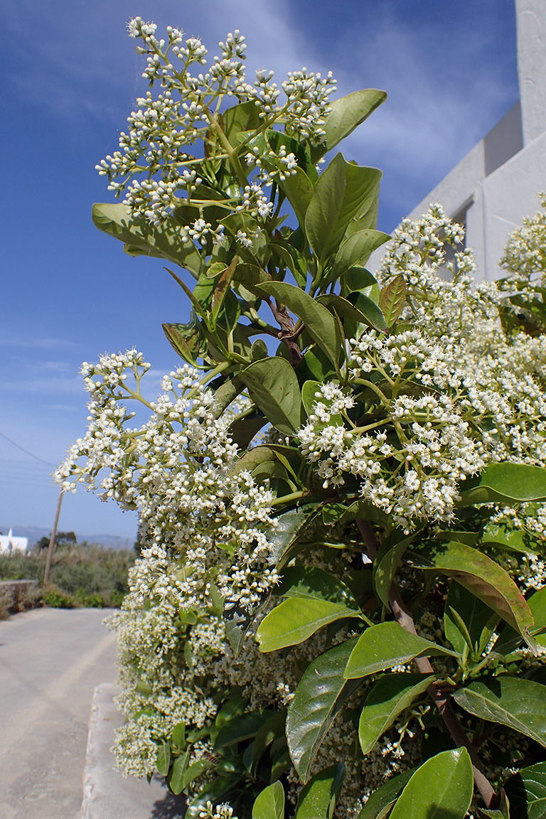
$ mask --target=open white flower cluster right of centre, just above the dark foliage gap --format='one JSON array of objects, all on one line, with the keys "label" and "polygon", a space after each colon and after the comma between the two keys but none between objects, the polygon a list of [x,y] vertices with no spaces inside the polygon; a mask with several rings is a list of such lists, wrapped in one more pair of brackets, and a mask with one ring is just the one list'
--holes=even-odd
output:
[{"label": "open white flower cluster right of centre, just above the dark foliage gap", "polygon": [[[352,375],[358,381],[370,369],[380,369],[394,383],[395,374],[407,377],[404,367],[411,362],[411,369],[421,368],[422,378],[432,372],[449,382],[438,352],[418,331],[390,337],[364,333],[354,342]],[[423,519],[449,521],[458,482],[486,462],[485,447],[472,437],[452,397],[440,392],[389,398],[377,387],[381,418],[363,427],[349,421],[352,428],[347,428],[340,411],[352,405],[352,397],[333,384],[321,391],[318,397],[328,396],[328,403],[314,405],[298,438],[304,455],[317,462],[324,486],[339,486],[347,474],[363,478],[362,496],[406,529]]]}]

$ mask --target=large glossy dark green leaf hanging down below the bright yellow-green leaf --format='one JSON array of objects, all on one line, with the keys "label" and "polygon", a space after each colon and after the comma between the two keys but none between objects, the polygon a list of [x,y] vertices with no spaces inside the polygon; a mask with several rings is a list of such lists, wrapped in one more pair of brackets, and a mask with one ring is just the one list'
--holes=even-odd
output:
[{"label": "large glossy dark green leaf hanging down below the bright yellow-green leaf", "polygon": [[356,637],[334,645],[305,669],[288,706],[287,741],[294,767],[305,782],[336,713],[359,682],[343,676]]}]

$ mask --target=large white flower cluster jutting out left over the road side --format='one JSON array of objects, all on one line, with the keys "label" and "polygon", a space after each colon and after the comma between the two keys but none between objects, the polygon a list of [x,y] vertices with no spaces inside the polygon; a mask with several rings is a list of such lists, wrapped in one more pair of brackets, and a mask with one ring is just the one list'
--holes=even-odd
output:
[{"label": "large white flower cluster jutting out left over the road side", "polygon": [[[210,600],[214,585],[251,607],[278,577],[268,543],[273,495],[250,473],[233,470],[229,414],[216,417],[214,394],[196,370],[184,364],[165,376],[164,392],[148,403],[140,392],[148,367],[135,351],[83,365],[93,396],[88,432],[56,479],[67,491],[83,482],[102,490],[103,500],[138,509],[147,549],[131,584],[142,600],[155,596],[191,609]],[[151,410],[142,427],[126,428],[132,415],[123,397]]]}]

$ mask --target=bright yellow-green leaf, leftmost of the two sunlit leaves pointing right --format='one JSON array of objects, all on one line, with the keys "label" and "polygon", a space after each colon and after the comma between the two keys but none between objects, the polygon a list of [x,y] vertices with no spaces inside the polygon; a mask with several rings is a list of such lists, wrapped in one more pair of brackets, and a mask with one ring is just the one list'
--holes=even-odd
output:
[{"label": "bright yellow-green leaf, leftmost of the two sunlit leaves pointing right", "polygon": [[256,640],[262,652],[299,645],[329,622],[358,617],[354,609],[329,600],[291,597],[276,606],[260,622]]}]

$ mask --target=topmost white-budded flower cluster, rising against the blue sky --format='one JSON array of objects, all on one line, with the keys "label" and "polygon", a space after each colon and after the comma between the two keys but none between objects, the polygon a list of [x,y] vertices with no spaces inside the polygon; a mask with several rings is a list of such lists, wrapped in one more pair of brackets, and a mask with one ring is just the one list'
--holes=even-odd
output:
[{"label": "topmost white-budded flower cluster, rising against the blue sky", "polygon": [[[129,133],[120,134],[120,149],[106,156],[97,170],[108,177],[109,189],[116,197],[126,191],[125,204],[134,213],[145,215],[151,224],[165,221],[183,203],[201,210],[210,204],[204,192],[198,189],[203,180],[197,171],[206,172],[206,163],[189,156],[186,147],[204,139],[217,161],[228,158],[237,147],[229,145],[223,130],[221,102],[224,98],[234,97],[240,103],[254,102],[262,120],[261,128],[283,125],[291,136],[310,138],[313,143],[323,141],[325,117],[331,110],[328,98],[336,88],[331,73],[323,78],[320,74],[308,74],[304,68],[289,74],[282,83],[285,101],[281,104],[278,102],[281,90],[273,82],[273,71],[259,70],[253,85],[246,82],[243,66],[246,44],[239,31],[228,34],[226,42],[219,43],[221,57],[214,57],[209,69],[195,76],[190,73],[190,67],[206,64],[207,51],[200,40],[187,38],[184,41],[183,33],[171,27],[167,29],[166,40],[158,39],[156,25],[145,23],[140,17],[130,21],[129,36],[144,43],[145,48],[138,48],[147,54],[143,76],[151,84],[159,81],[162,93],[157,98],[151,92],[138,98],[138,110],[128,119]],[[279,149],[278,156],[271,153],[283,179],[285,174],[296,172],[293,153],[287,154],[284,147]],[[247,152],[246,156],[254,154]],[[142,174],[146,174],[146,179],[136,179]],[[258,180],[268,184],[271,178],[265,173]],[[248,210],[254,205],[253,215],[262,219],[271,210],[261,189],[250,199],[242,197],[240,203],[241,197],[235,197],[226,199],[223,206],[233,209],[241,206]]]}]

